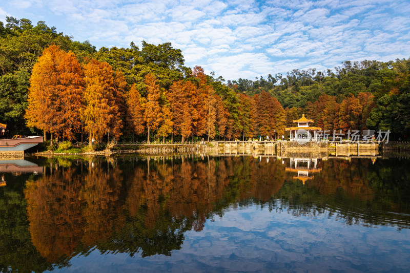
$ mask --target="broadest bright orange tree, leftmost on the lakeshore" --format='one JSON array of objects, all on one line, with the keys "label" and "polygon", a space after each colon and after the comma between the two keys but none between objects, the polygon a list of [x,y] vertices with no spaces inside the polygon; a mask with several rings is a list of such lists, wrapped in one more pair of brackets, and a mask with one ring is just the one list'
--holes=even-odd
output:
[{"label": "broadest bright orange tree, leftmost on the lakeshore", "polygon": [[[75,55],[50,46],[33,67],[25,118],[29,127],[74,139],[80,122],[83,71]],[[50,143],[52,145],[52,142]]]}]

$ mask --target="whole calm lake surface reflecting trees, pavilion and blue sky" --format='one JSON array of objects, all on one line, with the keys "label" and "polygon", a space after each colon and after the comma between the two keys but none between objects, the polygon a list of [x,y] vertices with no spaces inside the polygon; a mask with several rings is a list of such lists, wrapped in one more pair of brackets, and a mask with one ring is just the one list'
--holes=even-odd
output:
[{"label": "whole calm lake surface reflecting trees, pavilion and blue sky", "polygon": [[410,160],[0,160],[0,269],[410,271]]}]

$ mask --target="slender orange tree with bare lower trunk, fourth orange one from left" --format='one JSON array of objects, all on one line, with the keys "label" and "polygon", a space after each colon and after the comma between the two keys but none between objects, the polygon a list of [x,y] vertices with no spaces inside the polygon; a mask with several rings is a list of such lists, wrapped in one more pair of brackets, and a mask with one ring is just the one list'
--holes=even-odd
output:
[{"label": "slender orange tree with bare lower trunk, fourth orange one from left", "polygon": [[153,74],[147,74],[144,80],[147,86],[147,103],[145,104],[144,121],[148,129],[148,143],[150,143],[150,130],[156,130],[161,122],[161,107],[159,106],[161,94],[156,80],[157,78]]}]

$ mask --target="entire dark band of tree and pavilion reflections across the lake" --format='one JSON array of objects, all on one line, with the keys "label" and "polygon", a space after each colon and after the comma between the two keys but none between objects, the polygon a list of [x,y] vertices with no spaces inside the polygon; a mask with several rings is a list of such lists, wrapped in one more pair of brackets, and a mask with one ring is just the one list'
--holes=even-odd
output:
[{"label": "entire dark band of tree and pavilion reflections across the lake", "polygon": [[408,162],[288,156],[42,159],[42,172],[20,182],[10,178],[11,187],[0,192],[0,216],[8,225],[0,228],[14,226],[21,234],[3,234],[3,254],[16,240],[21,247],[0,255],[0,265],[42,271],[68,266],[95,248],[169,256],[188,230],[201,232],[207,219],[251,204],[294,217],[410,227]]}]

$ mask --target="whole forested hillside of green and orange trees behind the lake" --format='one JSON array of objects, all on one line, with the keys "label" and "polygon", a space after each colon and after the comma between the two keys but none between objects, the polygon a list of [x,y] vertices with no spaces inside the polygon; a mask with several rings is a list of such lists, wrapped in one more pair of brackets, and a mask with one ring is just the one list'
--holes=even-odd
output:
[{"label": "whole forested hillside of green and orange trees behind the lake", "polygon": [[324,130],[410,136],[410,58],[255,81],[214,78],[184,61],[171,43],[97,51],[45,22],[7,17],[0,22],[0,122],[9,136],[184,141],[278,136],[305,113]]}]

